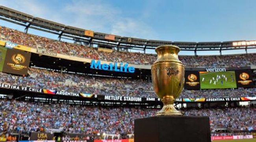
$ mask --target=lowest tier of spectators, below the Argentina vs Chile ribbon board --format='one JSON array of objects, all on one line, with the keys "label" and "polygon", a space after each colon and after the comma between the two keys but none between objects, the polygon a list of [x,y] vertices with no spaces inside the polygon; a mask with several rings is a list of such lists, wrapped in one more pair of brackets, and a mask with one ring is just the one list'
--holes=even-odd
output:
[{"label": "lowest tier of spectators, below the Argentina vs Chile ribbon board", "polygon": [[[125,107],[89,107],[66,103],[38,103],[0,100],[0,131],[47,131],[61,129],[67,133],[133,134],[134,119],[154,116],[157,109]],[[118,113],[117,113],[118,112]],[[185,116],[210,116],[211,131],[216,128],[247,130],[255,127],[253,107],[221,109],[184,109]]]}]

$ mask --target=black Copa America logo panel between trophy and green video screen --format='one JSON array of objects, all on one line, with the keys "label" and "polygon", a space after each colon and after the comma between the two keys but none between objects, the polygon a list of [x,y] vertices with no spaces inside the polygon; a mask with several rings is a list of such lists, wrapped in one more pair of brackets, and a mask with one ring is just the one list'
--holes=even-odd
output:
[{"label": "black Copa America logo panel between trophy and green video screen", "polygon": [[185,89],[200,89],[200,77],[198,71],[185,72]]}]

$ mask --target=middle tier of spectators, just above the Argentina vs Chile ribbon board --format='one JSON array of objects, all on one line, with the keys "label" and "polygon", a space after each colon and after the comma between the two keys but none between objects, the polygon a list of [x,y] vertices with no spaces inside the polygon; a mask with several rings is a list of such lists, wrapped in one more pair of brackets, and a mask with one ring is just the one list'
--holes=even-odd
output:
[{"label": "middle tier of spectators, just above the Argentina vs Chile ribbon board", "polygon": [[[111,96],[156,97],[152,83],[135,79],[116,79],[78,74],[59,73],[29,68],[28,76],[0,73],[0,83]],[[226,98],[256,96],[256,88],[186,90],[180,98]]]}]

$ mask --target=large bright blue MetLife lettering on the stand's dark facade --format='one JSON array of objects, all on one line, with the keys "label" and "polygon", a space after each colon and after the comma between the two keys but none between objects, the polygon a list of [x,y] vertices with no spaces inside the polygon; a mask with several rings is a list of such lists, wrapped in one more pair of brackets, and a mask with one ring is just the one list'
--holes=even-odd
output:
[{"label": "large bright blue MetLife lettering on the stand's dark facade", "polygon": [[128,66],[128,63],[126,64],[120,63],[120,66],[117,66],[117,63],[101,64],[100,61],[96,62],[95,60],[91,60],[90,68],[98,69],[98,70],[109,70],[114,72],[129,72],[129,73],[135,72],[134,66]]}]

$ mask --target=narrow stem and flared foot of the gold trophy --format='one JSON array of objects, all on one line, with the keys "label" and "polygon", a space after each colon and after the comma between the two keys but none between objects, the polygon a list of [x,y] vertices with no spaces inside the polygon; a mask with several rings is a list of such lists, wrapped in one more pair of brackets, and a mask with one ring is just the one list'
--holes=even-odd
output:
[{"label": "narrow stem and flared foot of the gold trophy", "polygon": [[163,102],[163,108],[157,112],[156,116],[169,116],[169,115],[183,115],[180,111],[177,111],[173,105],[173,98],[161,99]]}]

